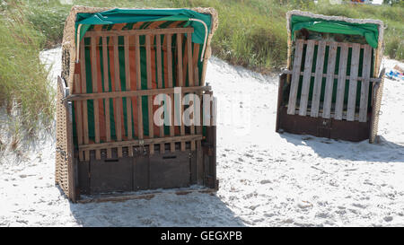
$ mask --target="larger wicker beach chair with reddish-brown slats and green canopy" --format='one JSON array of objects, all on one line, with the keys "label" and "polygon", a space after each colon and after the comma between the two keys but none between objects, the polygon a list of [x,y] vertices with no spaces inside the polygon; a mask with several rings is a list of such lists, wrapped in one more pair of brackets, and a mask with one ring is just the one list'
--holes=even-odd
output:
[{"label": "larger wicker beach chair with reddish-brown slats and green canopy", "polygon": [[[154,122],[158,94],[171,103],[212,94],[205,75],[216,28],[212,8],[72,8],[57,90],[56,182],[67,197],[117,200],[143,197],[130,193],[139,190],[150,197],[152,189],[218,188],[215,125],[174,125],[166,102],[164,125]],[[176,106],[180,113],[195,107],[192,117],[200,111],[202,121],[215,116],[202,103]]]}]

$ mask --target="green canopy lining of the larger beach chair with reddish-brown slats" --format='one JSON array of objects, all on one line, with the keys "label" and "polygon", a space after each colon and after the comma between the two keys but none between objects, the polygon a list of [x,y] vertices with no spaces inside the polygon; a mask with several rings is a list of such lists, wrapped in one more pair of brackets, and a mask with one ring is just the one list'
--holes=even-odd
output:
[{"label": "green canopy lining of the larger beach chair with reddish-brown slats", "polygon": [[[198,19],[206,23],[207,30],[210,30],[210,16],[198,13],[189,9],[111,9],[100,13],[77,13],[75,30],[80,28],[80,39],[83,39],[84,33],[94,24],[116,24],[116,23],[134,23],[134,22],[158,22],[158,21],[188,21],[186,26],[194,28],[192,41],[195,43],[204,43],[205,26],[201,22],[189,21],[189,19]],[[77,35],[77,33],[75,33]],[[77,36],[76,36],[77,37]]]}]

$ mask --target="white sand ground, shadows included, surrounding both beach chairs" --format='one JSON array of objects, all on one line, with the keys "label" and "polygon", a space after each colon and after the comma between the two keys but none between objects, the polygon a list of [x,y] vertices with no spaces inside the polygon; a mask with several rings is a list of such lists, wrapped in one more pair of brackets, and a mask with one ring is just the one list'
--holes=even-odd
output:
[{"label": "white sand ground, shadows included, surrounding both beach chairs", "polygon": [[[60,48],[41,56],[60,74]],[[0,226],[404,226],[404,83],[385,80],[382,142],[368,144],[277,134],[277,76],[213,57],[206,82],[219,103],[216,195],[71,204],[44,140],[25,159],[2,159]]]}]

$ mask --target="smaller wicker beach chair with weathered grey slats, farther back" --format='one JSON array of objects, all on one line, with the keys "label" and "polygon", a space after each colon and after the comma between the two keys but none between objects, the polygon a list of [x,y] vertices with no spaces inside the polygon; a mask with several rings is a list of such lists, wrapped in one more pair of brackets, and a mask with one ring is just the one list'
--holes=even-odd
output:
[{"label": "smaller wicker beach chair with weathered grey slats, farther back", "polygon": [[382,101],[383,23],[291,11],[277,132],[373,143]]}]

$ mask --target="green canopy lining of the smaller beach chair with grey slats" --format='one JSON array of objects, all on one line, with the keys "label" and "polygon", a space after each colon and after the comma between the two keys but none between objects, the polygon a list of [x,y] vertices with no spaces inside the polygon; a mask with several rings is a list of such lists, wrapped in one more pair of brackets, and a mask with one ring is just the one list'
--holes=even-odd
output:
[{"label": "green canopy lining of the smaller beach chair with grey slats", "polygon": [[360,35],[363,36],[366,39],[367,43],[373,48],[377,48],[378,44],[378,25],[373,23],[328,21],[320,18],[292,15],[290,25],[292,31],[292,39],[294,39],[294,31],[299,31],[304,28],[309,31]]}]

